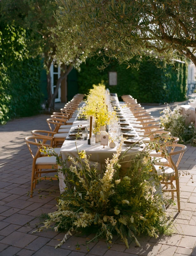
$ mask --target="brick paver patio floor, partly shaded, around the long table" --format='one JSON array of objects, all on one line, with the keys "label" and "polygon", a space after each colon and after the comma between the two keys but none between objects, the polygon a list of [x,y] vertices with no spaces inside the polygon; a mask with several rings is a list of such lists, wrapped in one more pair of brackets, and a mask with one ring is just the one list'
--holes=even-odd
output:
[{"label": "brick paver patio floor, partly shaded, around the long table", "polygon": [[[117,237],[108,249],[103,239],[86,246],[80,246],[76,251],[76,244],[85,243],[92,236],[76,234],[70,237],[61,248],[55,245],[64,237],[64,233],[52,230],[34,233],[36,224],[40,222],[39,215],[55,211],[56,201],[52,196],[39,199],[34,193],[32,198],[26,196],[30,189],[32,157],[24,137],[31,135],[31,130],[48,130],[46,115],[17,119],[0,126],[0,255],[1,256],[196,256],[196,148],[188,146],[180,163],[181,170],[188,170],[193,175],[181,176],[181,213],[174,212],[176,229],[169,237],[158,239],[140,236],[141,247],[130,244],[126,249]],[[58,183],[43,181],[37,188],[57,189]],[[47,195],[47,192],[43,192]],[[174,209],[168,210],[175,211]],[[177,211],[177,210],[176,210]]]}]

